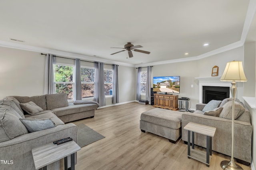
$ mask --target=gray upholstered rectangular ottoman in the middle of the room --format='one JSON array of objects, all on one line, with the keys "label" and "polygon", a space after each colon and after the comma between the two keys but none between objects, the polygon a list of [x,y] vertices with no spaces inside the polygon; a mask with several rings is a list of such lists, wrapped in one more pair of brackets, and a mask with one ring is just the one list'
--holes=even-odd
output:
[{"label": "gray upholstered rectangular ottoman in the middle of the room", "polygon": [[140,130],[154,133],[176,143],[181,136],[182,113],[161,108],[145,111],[140,115]]}]

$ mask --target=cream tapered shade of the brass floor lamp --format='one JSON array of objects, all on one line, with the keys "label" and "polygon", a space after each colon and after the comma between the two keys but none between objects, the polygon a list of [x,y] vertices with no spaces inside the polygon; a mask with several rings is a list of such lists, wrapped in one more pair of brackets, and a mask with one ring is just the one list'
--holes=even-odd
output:
[{"label": "cream tapered shade of the brass floor lamp", "polygon": [[224,82],[246,82],[242,61],[228,62],[220,81]]}]

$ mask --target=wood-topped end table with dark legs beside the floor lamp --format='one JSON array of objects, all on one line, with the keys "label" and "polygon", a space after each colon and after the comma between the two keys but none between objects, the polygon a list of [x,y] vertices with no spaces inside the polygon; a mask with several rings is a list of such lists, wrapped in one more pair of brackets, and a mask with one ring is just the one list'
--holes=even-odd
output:
[{"label": "wood-topped end table with dark legs beside the floor lamp", "polygon": [[[212,155],[212,137],[214,137],[216,127],[200,125],[198,123],[189,122],[185,127],[188,130],[188,158],[193,158],[210,166],[210,155]],[[192,131],[192,150],[190,152],[190,131]],[[205,152],[194,149],[194,133],[206,135],[206,156]]]}]

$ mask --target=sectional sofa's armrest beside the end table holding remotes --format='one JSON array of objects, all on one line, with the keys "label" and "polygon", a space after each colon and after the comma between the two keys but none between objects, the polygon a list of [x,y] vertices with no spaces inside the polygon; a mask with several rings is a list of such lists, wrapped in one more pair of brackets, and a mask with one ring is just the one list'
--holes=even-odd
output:
[{"label": "sectional sofa's armrest beside the end table holding remotes", "polygon": [[[0,158],[1,160],[12,160],[13,164],[2,164],[1,169],[35,169],[32,149],[52,143],[58,139],[71,137],[77,141],[78,127],[73,123],[66,125],[58,125],[56,127],[43,131],[20,135],[9,141],[0,143]],[[60,161],[51,164],[51,166],[59,167]]]}]

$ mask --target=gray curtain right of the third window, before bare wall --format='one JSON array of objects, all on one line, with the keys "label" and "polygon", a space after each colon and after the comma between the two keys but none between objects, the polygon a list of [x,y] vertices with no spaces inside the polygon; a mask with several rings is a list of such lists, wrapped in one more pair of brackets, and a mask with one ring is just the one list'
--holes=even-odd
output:
[{"label": "gray curtain right of the third window, before bare wall", "polygon": [[113,89],[112,89],[113,97],[112,103],[119,103],[119,93],[118,93],[118,65],[113,65]]}]

